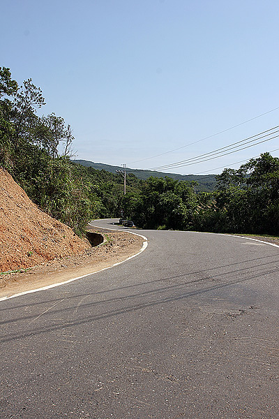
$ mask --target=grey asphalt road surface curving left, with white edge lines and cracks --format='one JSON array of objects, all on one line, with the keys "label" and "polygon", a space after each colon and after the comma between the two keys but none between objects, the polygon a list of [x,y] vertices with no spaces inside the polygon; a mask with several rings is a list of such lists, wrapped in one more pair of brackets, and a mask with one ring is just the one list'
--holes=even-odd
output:
[{"label": "grey asphalt road surface curving left, with white edge lines and cracks", "polygon": [[0,417],[279,418],[279,248],[139,233],[121,265],[0,302]]}]

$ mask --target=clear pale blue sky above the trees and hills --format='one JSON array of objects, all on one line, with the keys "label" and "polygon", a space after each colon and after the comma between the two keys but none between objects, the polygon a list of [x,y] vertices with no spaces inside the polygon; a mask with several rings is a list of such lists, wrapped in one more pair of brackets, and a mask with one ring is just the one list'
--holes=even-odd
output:
[{"label": "clear pale blue sky above the trees and hills", "polygon": [[[0,0],[0,6],[0,66],[17,82],[32,78],[43,89],[41,113],[55,112],[72,126],[77,159],[154,168],[279,125],[279,109],[269,112],[279,107],[278,0]],[[218,173],[278,148],[275,138],[163,171]]]}]

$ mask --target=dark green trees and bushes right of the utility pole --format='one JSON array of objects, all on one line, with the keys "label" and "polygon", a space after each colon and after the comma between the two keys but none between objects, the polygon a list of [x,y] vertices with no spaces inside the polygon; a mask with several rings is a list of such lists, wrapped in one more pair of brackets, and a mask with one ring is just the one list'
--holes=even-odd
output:
[{"label": "dark green trees and bushes right of the utility pole", "polygon": [[149,178],[123,205],[135,224],[215,233],[279,234],[279,159],[269,153],[216,176],[212,193],[195,185]]}]

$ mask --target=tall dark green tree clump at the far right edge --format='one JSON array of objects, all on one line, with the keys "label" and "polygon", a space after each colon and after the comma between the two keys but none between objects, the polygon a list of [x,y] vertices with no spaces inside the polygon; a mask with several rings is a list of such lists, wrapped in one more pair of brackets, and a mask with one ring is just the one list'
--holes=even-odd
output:
[{"label": "tall dark green tree clump at the far right edge", "polygon": [[216,216],[211,230],[279,233],[279,159],[269,153],[218,177]]}]

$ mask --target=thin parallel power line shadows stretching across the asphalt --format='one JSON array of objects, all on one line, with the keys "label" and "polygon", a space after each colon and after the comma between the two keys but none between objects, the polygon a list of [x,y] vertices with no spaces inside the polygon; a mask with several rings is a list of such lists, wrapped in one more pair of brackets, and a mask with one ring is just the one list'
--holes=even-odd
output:
[{"label": "thin parallel power line shadows stretching across the asphalt", "polygon": [[[271,258],[271,259],[269,259]],[[262,260],[261,260],[262,259]],[[269,259],[269,260],[266,260]],[[265,261],[264,261],[265,260]],[[84,318],[82,319],[78,319],[78,320],[73,320],[73,321],[69,321],[68,318],[65,320],[65,322],[63,322],[63,324],[57,325],[43,325],[43,327],[37,327],[37,328],[32,328],[32,330],[22,330],[21,332],[15,332],[15,333],[10,333],[6,336],[1,336],[0,341],[1,342],[6,342],[6,341],[13,341],[15,339],[24,339],[27,337],[31,337],[34,335],[40,335],[41,333],[46,333],[46,332],[50,332],[50,331],[54,331],[54,330],[60,330],[60,329],[65,329],[65,328],[71,328],[73,326],[76,325],[82,325],[85,323],[91,323],[94,321],[98,321],[100,319],[103,318],[110,318],[113,316],[118,316],[119,314],[126,314],[132,311],[136,311],[139,309],[144,309],[144,308],[149,308],[149,307],[155,307],[156,305],[162,305],[168,302],[173,302],[173,301],[177,301],[177,300],[184,300],[187,299],[189,297],[193,297],[195,295],[201,295],[204,293],[209,293],[211,291],[216,291],[216,290],[220,290],[221,288],[227,288],[229,286],[234,286],[236,284],[241,284],[244,282],[247,282],[251,279],[256,279],[256,278],[263,278],[265,274],[271,274],[274,272],[278,272],[278,268],[276,267],[271,267],[270,265],[273,264],[275,261],[277,260],[276,255],[270,255],[270,256],[264,256],[262,258],[254,258],[254,259],[249,259],[249,260],[241,260],[241,262],[236,262],[236,263],[231,263],[228,265],[220,265],[218,267],[212,267],[212,268],[208,268],[206,270],[196,270],[187,274],[179,274],[176,276],[172,276],[172,277],[165,277],[164,279],[155,279],[153,281],[145,281],[142,282],[140,284],[133,284],[130,286],[120,286],[120,287],[116,287],[116,288],[112,288],[110,290],[105,290],[105,291],[97,291],[95,293],[84,293],[84,294],[79,294],[79,295],[73,295],[73,296],[67,296],[63,299],[61,298],[56,298],[53,300],[45,300],[45,302],[36,302],[36,303],[31,303],[31,304],[22,304],[22,305],[18,305],[15,307],[8,307],[7,310],[10,310],[12,308],[14,309],[20,309],[20,308],[24,308],[24,307],[31,307],[39,305],[40,309],[42,309],[42,314],[40,314],[40,316],[42,316],[43,314],[45,314],[47,311],[51,312],[51,314],[62,314],[62,313],[66,313],[67,311],[73,311],[73,309],[75,309],[75,307],[77,307],[75,304],[73,304],[73,300],[78,299],[80,301],[80,298],[85,298],[85,297],[90,297],[90,296],[94,296],[94,295],[102,295],[102,294],[106,294],[106,293],[115,293],[116,291],[127,291],[129,289],[131,289],[131,291],[135,288],[137,288],[137,292],[133,292],[130,293],[129,295],[119,295],[116,297],[112,297],[112,298],[107,298],[106,300],[101,300],[101,301],[93,301],[93,302],[84,302],[83,304],[81,302],[79,302],[77,305],[79,307],[79,314],[81,313],[82,309],[87,309],[87,308],[93,308],[96,307],[98,309],[102,309],[102,307],[105,307],[105,304],[114,304],[116,302],[119,302],[120,304],[126,304],[126,307],[119,307],[119,308],[112,308],[109,309],[103,313],[98,313],[98,314],[94,314],[91,316],[88,316],[87,313],[84,314]],[[237,269],[237,266],[242,264],[242,263],[251,263],[251,262],[257,262],[255,264],[253,264],[252,266],[250,266],[249,268],[241,268],[241,269]],[[223,272],[223,273],[216,273],[214,274],[213,271],[214,270],[220,270],[221,268],[234,268],[234,269],[230,269],[228,272]],[[257,268],[257,267],[261,267],[262,270],[261,272],[257,272],[257,274],[253,274],[251,272],[251,270],[253,268]],[[210,274],[210,272],[212,272],[212,274]],[[202,278],[199,279],[190,279],[192,275],[204,275],[206,273],[205,276],[203,276]],[[242,278],[242,279],[233,279],[232,281],[229,281],[228,277],[235,277],[235,274],[245,274],[246,277]],[[213,285],[208,285],[208,284],[204,284],[205,281],[215,281],[216,279],[218,279],[219,277],[225,277],[225,281],[226,283],[222,283],[222,284],[213,284]],[[179,284],[171,284],[171,285],[167,285],[167,286],[160,286],[160,287],[156,287],[152,290],[149,291],[142,291],[139,292],[138,291],[138,287],[142,287],[142,286],[150,286],[150,285],[158,285],[162,282],[165,281],[172,281],[174,279],[182,279],[182,278],[189,278],[188,281],[183,281],[182,283]],[[201,285],[201,287],[199,289],[195,289],[193,291],[186,291],[186,288],[193,286],[193,285]],[[176,295],[166,295],[163,296],[162,293],[176,293]],[[143,298],[148,298],[148,301],[142,301]],[[135,300],[141,300],[140,302],[136,302]],[[150,300],[151,299],[151,300]],[[63,309],[58,309],[58,307],[56,307],[56,305],[59,304],[59,302],[62,302],[63,304],[65,304],[65,302],[68,302],[69,306]],[[130,304],[132,302],[132,304]],[[54,303],[54,304],[53,304]],[[47,305],[46,305],[47,304]],[[50,304],[53,304],[52,306],[50,306]],[[47,308],[48,306],[48,308]],[[43,310],[43,307],[45,307],[45,311]],[[56,309],[54,309],[54,307],[56,307]],[[52,309],[53,308],[53,309]],[[1,309],[1,311],[3,311],[5,309]],[[51,311],[50,311],[51,310]],[[35,315],[32,314],[30,316],[20,316],[19,318],[11,318],[9,320],[3,321],[0,324],[1,325],[8,325],[10,323],[16,323],[17,321],[28,321],[31,319],[31,322],[29,322],[27,325],[23,325],[22,327],[28,327],[29,324],[33,323],[34,321],[36,321],[36,319],[38,317],[38,313],[36,313]],[[33,319],[33,320],[32,320]],[[34,323],[32,324],[33,327]]]}]

